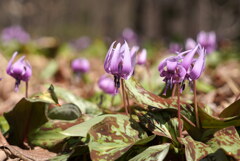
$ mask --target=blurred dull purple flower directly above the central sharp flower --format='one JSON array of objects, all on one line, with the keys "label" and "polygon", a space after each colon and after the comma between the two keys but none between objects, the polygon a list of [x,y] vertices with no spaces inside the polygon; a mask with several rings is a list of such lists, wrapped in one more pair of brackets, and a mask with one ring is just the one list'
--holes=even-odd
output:
[{"label": "blurred dull purple flower directly above the central sharp flower", "polygon": [[125,28],[122,32],[123,40],[126,40],[131,46],[138,44],[138,35],[130,28]]}]

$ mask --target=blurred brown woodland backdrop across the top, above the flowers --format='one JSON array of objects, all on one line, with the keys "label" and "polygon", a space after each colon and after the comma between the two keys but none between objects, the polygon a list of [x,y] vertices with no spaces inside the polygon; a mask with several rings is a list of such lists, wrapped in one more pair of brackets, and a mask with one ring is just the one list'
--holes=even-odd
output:
[{"label": "blurred brown woodland backdrop across the top, above the flowers", "polygon": [[33,38],[116,39],[125,28],[141,40],[182,41],[201,31],[240,39],[239,0],[1,0],[0,31],[20,25]]}]

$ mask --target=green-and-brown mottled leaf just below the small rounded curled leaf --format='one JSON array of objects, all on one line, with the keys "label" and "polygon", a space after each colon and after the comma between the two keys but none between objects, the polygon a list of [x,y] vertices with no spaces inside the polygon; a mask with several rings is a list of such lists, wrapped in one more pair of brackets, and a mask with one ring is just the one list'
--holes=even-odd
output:
[{"label": "green-and-brown mottled leaf just below the small rounded curled leaf", "polygon": [[67,137],[66,135],[61,134],[61,131],[83,121],[84,120],[82,118],[74,121],[50,120],[30,133],[29,141],[31,144],[41,146],[43,148],[53,148]]}]

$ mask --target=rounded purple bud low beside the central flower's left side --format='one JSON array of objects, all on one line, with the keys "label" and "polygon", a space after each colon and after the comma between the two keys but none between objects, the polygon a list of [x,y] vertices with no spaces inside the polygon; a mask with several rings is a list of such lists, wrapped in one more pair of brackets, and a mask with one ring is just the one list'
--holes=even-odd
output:
[{"label": "rounded purple bud low beside the central flower's left side", "polygon": [[106,75],[100,77],[100,79],[98,80],[98,86],[107,94],[117,94],[117,88],[115,87],[113,79]]}]

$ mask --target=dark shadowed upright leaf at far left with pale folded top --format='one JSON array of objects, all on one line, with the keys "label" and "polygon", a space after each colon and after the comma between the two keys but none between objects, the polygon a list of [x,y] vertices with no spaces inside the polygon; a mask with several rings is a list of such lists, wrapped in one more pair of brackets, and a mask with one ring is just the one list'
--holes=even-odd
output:
[{"label": "dark shadowed upright leaf at far left with pale folded top", "polygon": [[48,92],[42,94],[29,99],[22,98],[12,111],[4,114],[10,126],[10,143],[21,145],[30,132],[47,122],[46,106],[55,104],[55,101]]}]

